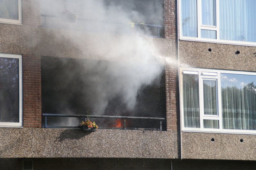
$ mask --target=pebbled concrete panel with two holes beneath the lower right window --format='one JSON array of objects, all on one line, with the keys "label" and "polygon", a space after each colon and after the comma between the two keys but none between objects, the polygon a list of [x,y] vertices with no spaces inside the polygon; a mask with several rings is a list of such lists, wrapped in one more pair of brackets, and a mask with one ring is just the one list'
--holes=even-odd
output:
[{"label": "pebbled concrete panel with two holes beneath the lower right window", "polygon": [[256,135],[182,132],[182,159],[256,160],[255,143]]}]

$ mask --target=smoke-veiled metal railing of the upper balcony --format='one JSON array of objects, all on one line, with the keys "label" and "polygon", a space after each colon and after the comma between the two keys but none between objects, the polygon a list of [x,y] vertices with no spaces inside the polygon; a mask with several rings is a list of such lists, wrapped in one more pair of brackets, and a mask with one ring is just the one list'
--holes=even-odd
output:
[{"label": "smoke-veiled metal railing of the upper balcony", "polygon": [[[41,27],[47,27],[46,24],[46,17],[52,17],[52,18],[60,18],[60,15],[50,15],[50,14],[42,14],[41,16],[44,17],[44,25],[42,25]],[[94,20],[94,19],[88,19],[88,18],[77,18],[77,20],[81,20],[81,21],[91,21],[91,22],[101,22],[101,23],[109,23],[109,24],[121,24],[121,25],[128,25],[128,23],[121,23],[121,22],[115,22],[115,21],[104,21],[104,20]],[[140,25],[139,23],[134,23],[134,25]],[[156,27],[157,28],[157,36],[153,36],[150,35],[149,37],[156,37],[156,38],[162,38],[160,36],[160,29],[163,26],[159,26],[159,25],[152,25],[152,24],[144,24],[145,26],[149,26],[149,27]],[[84,31],[92,31],[92,30],[87,30],[85,29],[85,22],[84,22]],[[94,30],[95,31],[95,30]],[[100,32],[99,30],[97,30],[97,32]]]}]

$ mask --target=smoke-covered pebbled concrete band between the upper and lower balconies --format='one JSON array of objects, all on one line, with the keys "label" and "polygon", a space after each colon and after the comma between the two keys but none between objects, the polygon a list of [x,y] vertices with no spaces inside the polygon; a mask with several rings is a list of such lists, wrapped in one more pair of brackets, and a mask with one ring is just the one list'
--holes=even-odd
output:
[{"label": "smoke-covered pebbled concrete band between the upper and lower balconies", "polygon": [[176,41],[0,23],[0,53],[176,63]]}]

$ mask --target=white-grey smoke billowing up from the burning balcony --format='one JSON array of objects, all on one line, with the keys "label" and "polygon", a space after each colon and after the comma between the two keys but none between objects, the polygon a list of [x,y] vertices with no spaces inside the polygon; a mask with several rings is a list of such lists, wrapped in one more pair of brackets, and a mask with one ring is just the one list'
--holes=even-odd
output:
[{"label": "white-grey smoke billowing up from the burning balcony", "polygon": [[[142,0],[140,8],[150,8],[152,12],[146,12],[146,15],[138,9],[138,1],[130,0],[130,4],[126,2],[124,6],[117,1],[103,1],[103,0],[44,0],[41,1],[41,13],[59,15],[63,10],[69,10],[73,13],[79,13],[80,18],[88,18],[99,21],[114,21],[124,24],[109,24],[92,21],[78,21],[77,23],[63,23],[60,18],[47,18],[47,25],[55,28],[68,29],[84,29],[86,31],[100,31],[105,33],[127,34],[118,40],[118,44],[109,44],[108,39],[101,42],[92,41],[90,48],[95,51],[98,56],[104,56],[104,59],[109,61],[125,61],[104,63],[101,61],[93,61],[80,63],[83,65],[81,69],[81,83],[84,89],[79,89],[81,93],[85,94],[84,101],[86,101],[94,115],[103,115],[107,108],[109,101],[117,95],[121,95],[121,100],[125,103],[127,110],[132,111],[137,103],[138,92],[143,85],[150,85],[153,80],[158,78],[163,70],[163,66],[159,64],[160,60],[165,59],[166,56],[160,56],[156,47],[152,46],[150,39],[145,35],[151,35],[152,29],[146,27],[131,28],[132,24],[129,22],[142,21],[150,22],[146,24],[163,25],[163,6],[162,1],[157,0]],[[124,2],[124,1],[123,1]],[[133,3],[137,3],[136,5]],[[156,5],[156,6],[154,6]],[[155,13],[154,13],[155,12]],[[41,24],[44,25],[44,20],[41,18]],[[85,27],[84,27],[85,26]],[[74,37],[62,35],[74,45],[78,42]],[[80,49],[84,55],[87,51]],[[127,55],[129,53],[129,55]],[[132,55],[131,55],[132,54]],[[168,58],[169,60],[169,58]],[[66,60],[63,59],[65,62]],[[173,62],[173,61],[169,61]],[[54,67],[54,66],[53,66]],[[100,73],[100,74],[99,74]],[[70,86],[72,78],[78,76],[77,72],[66,71],[68,74],[62,86]],[[93,76],[92,76],[93,75]],[[57,80],[56,80],[57,81]],[[89,83],[90,82],[90,83]],[[159,85],[160,86],[160,85]],[[62,89],[56,87],[56,91]],[[79,92],[74,92],[79,93]],[[63,99],[61,104],[61,113],[70,114],[66,103],[70,98]],[[77,113],[73,113],[77,114]],[[147,115],[145,115],[147,116]],[[154,116],[154,115],[151,115]]]}]

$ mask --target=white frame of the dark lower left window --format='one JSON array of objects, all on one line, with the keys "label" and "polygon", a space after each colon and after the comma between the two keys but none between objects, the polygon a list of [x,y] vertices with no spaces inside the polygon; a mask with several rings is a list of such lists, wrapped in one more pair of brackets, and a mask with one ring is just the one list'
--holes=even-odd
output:
[{"label": "white frame of the dark lower left window", "polygon": [[5,54],[0,53],[1,58],[18,58],[19,59],[19,122],[0,122],[0,127],[22,127],[22,55],[16,55],[16,54]]}]

